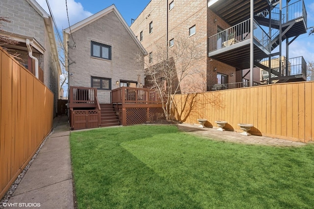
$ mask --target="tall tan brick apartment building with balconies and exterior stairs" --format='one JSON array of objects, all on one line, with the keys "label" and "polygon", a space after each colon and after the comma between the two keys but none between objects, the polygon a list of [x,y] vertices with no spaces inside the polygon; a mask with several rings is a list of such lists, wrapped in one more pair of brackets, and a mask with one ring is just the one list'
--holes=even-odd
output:
[{"label": "tall tan brick apartment building with balconies and exterior stairs", "polygon": [[[293,12],[286,14],[288,11]],[[280,12],[285,18],[278,18]],[[151,0],[131,29],[154,64],[160,61],[154,59],[157,45],[170,49],[179,37],[196,43],[203,58],[195,69],[191,68],[194,75],[184,78],[180,87],[181,93],[192,93],[219,90],[213,87],[221,84],[236,88],[261,84],[260,81],[305,80],[303,57],[288,58],[288,52],[285,57],[278,49],[290,38],[288,51],[295,37],[306,33],[306,18],[303,0]],[[274,59],[287,63],[284,66],[296,63],[295,71],[284,66],[272,68],[268,60]],[[265,80],[260,80],[260,68],[271,76],[264,75]]]}]

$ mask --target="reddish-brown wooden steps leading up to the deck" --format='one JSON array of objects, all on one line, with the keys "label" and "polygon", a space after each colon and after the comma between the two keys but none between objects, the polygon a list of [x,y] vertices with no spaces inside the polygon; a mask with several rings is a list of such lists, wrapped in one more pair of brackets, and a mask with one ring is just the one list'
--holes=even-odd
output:
[{"label": "reddish-brown wooden steps leading up to the deck", "polygon": [[115,114],[112,104],[100,104],[101,108],[101,127],[119,126],[119,118]]}]

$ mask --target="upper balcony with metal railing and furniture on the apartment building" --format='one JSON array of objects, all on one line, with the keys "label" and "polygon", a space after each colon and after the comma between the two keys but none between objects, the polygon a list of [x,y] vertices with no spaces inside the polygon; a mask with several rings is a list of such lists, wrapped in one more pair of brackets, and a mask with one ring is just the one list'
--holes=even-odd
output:
[{"label": "upper balcony with metal railing and furniture on the apartment building", "polygon": [[[219,32],[208,39],[209,57],[238,69],[250,68],[250,19]],[[254,59],[267,57],[271,51],[268,34],[254,20]]]}]

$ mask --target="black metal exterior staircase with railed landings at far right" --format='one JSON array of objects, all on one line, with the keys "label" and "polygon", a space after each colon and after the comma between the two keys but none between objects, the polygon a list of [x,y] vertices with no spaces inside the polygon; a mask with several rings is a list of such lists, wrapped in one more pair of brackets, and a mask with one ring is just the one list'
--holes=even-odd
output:
[{"label": "black metal exterior staircase with railed landings at far right", "polygon": [[[269,10],[263,11],[255,16],[255,20],[262,26],[271,26],[271,52],[280,46],[280,42],[286,40],[286,49],[300,35],[306,33],[307,13],[303,0],[298,0],[282,8],[280,16],[279,4],[272,4]],[[271,17],[271,19],[270,19]],[[281,17],[281,18],[280,18]],[[292,38],[289,40],[289,38]],[[276,54],[276,53],[274,53]],[[277,53],[278,54],[278,53]],[[278,54],[275,57],[268,57],[258,61],[254,61],[254,65],[268,71],[269,81],[271,75],[272,82],[293,82],[306,80],[306,62],[303,57],[288,58]],[[270,62],[268,61],[270,59]],[[268,62],[268,66],[265,63]],[[280,64],[281,63],[281,64]],[[269,64],[271,73],[269,74]]]}]

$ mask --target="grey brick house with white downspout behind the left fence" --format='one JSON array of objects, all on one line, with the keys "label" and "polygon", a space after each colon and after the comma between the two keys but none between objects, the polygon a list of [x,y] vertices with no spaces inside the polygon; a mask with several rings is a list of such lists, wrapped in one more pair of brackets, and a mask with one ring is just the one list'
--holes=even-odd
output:
[{"label": "grey brick house with white downspout behind the left fence", "polygon": [[2,22],[0,35],[19,42],[2,47],[20,54],[18,61],[52,91],[56,115],[61,68],[52,17],[35,0],[1,0],[0,15],[10,21]]}]

